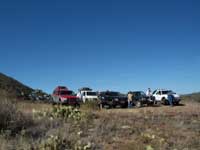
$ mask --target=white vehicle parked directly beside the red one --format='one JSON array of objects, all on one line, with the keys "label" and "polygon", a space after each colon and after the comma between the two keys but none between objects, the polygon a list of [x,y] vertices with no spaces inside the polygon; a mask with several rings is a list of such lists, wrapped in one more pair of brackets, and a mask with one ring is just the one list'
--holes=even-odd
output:
[{"label": "white vehicle parked directly beside the red one", "polygon": [[86,101],[98,100],[97,93],[93,92],[92,89],[86,88],[86,87],[79,89],[79,92],[77,93],[77,97],[79,97],[79,99],[84,103]]}]

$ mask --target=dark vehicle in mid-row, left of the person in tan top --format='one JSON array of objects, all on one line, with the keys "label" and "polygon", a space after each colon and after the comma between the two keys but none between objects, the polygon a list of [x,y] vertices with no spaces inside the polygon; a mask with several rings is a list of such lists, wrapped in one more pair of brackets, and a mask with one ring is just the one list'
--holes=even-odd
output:
[{"label": "dark vehicle in mid-row, left of the person in tan top", "polygon": [[128,99],[126,95],[114,91],[105,91],[99,93],[100,106],[115,108],[115,107],[127,107]]}]

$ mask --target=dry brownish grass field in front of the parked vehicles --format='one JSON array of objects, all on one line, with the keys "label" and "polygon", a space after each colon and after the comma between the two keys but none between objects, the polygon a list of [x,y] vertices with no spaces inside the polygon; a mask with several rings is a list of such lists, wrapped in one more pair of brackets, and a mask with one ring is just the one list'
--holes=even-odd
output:
[{"label": "dry brownish grass field in front of the parked vehicles", "polygon": [[[19,102],[16,107],[28,116],[33,109],[52,108],[29,102]],[[0,134],[0,149],[200,149],[199,103],[109,110],[84,106],[81,111],[85,115],[78,122],[32,115],[32,125],[15,137]]]}]

